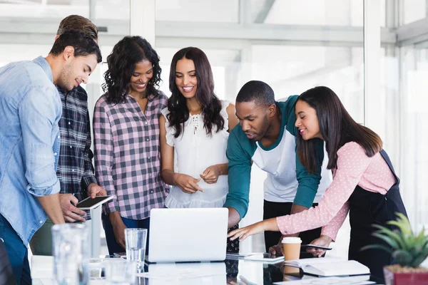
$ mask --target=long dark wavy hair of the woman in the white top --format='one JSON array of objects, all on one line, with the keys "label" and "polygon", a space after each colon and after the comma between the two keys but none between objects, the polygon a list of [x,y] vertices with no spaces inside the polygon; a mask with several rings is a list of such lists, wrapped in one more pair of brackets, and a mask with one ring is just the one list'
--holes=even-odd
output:
[{"label": "long dark wavy hair of the woman in the white top", "polygon": [[196,79],[198,80],[195,97],[203,113],[203,126],[207,134],[210,135],[212,133],[214,125],[217,127],[216,132],[223,130],[225,120],[220,115],[221,101],[214,93],[213,71],[211,71],[210,62],[205,53],[199,48],[188,47],[182,48],[175,53],[170,68],[171,97],[168,100],[168,111],[170,113],[166,117],[170,125],[175,128],[174,137],[178,138],[183,132],[184,123],[189,118],[186,99],[175,85],[175,67],[177,66],[177,61],[182,58],[190,59],[195,64]]}]

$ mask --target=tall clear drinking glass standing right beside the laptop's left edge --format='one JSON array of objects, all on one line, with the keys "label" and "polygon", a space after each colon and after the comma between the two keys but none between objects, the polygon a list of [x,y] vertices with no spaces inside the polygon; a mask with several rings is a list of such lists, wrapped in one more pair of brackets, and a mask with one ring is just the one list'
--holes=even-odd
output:
[{"label": "tall clear drinking glass standing right beside the laptop's left edge", "polygon": [[126,259],[137,261],[138,269],[144,267],[147,229],[125,229]]}]

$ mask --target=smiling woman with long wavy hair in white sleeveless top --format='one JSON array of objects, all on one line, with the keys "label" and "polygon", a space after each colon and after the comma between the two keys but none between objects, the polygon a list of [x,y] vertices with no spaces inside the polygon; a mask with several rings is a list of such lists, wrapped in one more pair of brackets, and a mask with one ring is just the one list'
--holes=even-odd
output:
[{"label": "smiling woman with long wavy hair in white sleeveless top", "polygon": [[[170,67],[168,108],[162,110],[161,176],[173,185],[168,208],[223,207],[228,194],[229,130],[235,105],[214,93],[213,72],[199,48],[183,48]],[[228,243],[228,252],[238,252]]]}]

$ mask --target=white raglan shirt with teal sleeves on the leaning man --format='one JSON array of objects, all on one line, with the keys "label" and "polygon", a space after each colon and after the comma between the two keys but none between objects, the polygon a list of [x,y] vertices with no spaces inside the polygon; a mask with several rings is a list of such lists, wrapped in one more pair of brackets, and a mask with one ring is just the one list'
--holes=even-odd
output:
[{"label": "white raglan shirt with teal sleeves on the leaning man", "polygon": [[[297,95],[292,95],[285,102],[276,102],[281,111],[281,128],[277,141],[270,147],[250,140],[241,125],[230,132],[226,152],[229,192],[224,207],[236,209],[241,219],[248,211],[252,161],[267,172],[265,199],[312,206],[321,180],[321,163],[315,173],[309,174],[297,157],[296,100]],[[318,139],[317,152],[322,162],[324,147],[322,140]]]}]

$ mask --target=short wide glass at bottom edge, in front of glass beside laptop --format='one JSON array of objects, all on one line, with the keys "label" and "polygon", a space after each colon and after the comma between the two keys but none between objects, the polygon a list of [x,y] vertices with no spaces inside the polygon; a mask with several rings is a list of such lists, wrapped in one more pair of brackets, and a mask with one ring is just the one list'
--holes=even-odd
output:
[{"label": "short wide glass at bottom edge, in front of glass beside laptop", "polygon": [[106,284],[133,285],[136,282],[137,263],[125,259],[106,259]]}]

